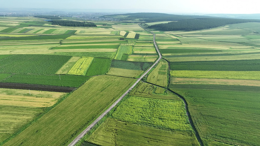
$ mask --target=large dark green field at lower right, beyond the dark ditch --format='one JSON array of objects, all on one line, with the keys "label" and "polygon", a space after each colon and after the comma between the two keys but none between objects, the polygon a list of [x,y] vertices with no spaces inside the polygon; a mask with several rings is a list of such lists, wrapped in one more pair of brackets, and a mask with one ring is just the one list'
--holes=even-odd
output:
[{"label": "large dark green field at lower right, beyond the dark ditch", "polygon": [[259,145],[259,87],[177,84],[170,89],[187,100],[205,146]]}]

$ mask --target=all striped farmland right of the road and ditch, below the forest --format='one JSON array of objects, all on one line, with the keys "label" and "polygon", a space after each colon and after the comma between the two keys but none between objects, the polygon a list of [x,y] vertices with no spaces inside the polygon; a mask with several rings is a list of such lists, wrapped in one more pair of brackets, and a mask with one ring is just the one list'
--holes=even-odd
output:
[{"label": "all striped farmland right of the road and ditch, below the forest", "polygon": [[[205,146],[257,146],[259,23],[164,32],[181,44],[159,44],[170,62],[169,89],[183,96]],[[164,37],[165,37],[164,36]],[[253,120],[254,119],[254,120]]]}]

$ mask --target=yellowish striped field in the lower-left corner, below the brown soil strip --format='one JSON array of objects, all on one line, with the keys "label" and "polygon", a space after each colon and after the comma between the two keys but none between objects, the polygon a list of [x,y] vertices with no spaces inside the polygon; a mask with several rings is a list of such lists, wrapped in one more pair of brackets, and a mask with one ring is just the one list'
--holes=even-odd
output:
[{"label": "yellowish striped field in the lower-left corner, below the brown soil strip", "polygon": [[48,91],[0,89],[0,144],[63,95]]}]

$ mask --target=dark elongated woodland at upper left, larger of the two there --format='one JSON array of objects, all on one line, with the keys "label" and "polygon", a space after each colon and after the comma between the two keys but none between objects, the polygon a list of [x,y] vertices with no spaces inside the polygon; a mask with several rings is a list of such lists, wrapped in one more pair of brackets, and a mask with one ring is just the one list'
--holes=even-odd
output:
[{"label": "dark elongated woodland at upper left, larger of the two there", "polygon": [[70,21],[70,20],[51,20],[50,22],[52,22],[52,25],[60,25],[60,26],[97,27],[97,25],[92,22],[80,22],[80,21]]}]

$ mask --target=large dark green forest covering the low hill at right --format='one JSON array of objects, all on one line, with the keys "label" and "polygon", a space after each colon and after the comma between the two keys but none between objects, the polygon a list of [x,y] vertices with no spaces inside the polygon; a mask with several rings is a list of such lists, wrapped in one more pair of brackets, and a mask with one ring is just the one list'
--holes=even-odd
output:
[{"label": "large dark green forest covering the low hill at right", "polygon": [[231,19],[231,18],[196,18],[185,19],[176,22],[151,25],[148,28],[157,29],[160,31],[193,31],[201,29],[209,29],[228,24],[260,22],[254,19]]}]

